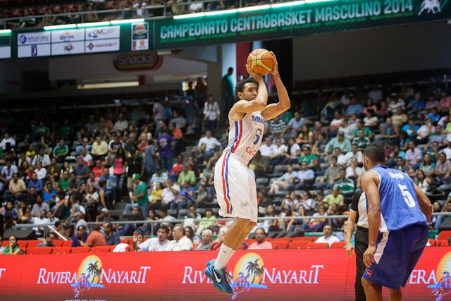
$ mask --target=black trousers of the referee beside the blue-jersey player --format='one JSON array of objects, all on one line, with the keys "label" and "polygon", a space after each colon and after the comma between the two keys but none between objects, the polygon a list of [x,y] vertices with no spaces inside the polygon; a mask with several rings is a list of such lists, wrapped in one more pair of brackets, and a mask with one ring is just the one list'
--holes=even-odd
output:
[{"label": "black trousers of the referee beside the blue-jersey player", "polygon": [[364,287],[362,286],[362,275],[365,272],[364,252],[368,248],[368,229],[357,227],[355,233],[355,263],[357,266],[357,274],[355,276],[355,300],[366,301]]}]

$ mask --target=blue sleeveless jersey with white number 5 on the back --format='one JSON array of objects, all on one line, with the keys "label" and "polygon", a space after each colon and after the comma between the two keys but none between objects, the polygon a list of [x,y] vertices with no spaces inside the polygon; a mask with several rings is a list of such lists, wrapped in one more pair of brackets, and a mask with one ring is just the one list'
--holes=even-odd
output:
[{"label": "blue sleeveless jersey with white number 5 on the back", "polygon": [[[414,223],[428,226],[426,216],[421,212],[416,198],[414,182],[407,173],[381,165],[369,171],[377,173],[380,180],[380,232],[400,230]],[[368,196],[366,196],[366,206],[368,209]]]}]

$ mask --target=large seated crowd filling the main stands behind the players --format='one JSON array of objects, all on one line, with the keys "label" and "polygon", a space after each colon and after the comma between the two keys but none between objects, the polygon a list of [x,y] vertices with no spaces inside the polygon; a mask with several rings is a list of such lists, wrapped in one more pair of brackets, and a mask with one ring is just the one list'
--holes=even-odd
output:
[{"label": "large seated crowd filling the main stands behind the players", "polygon": [[[132,236],[136,250],[191,250],[193,243],[194,250],[216,250],[228,223],[216,221],[214,166],[228,131],[217,127],[223,112],[202,85],[191,93],[194,97],[177,109],[155,102],[5,114],[0,122],[4,227],[49,223],[72,238],[73,247],[118,245],[121,236]],[[326,224],[326,238],[341,231],[344,219],[321,217],[347,214],[364,173],[362,151],[371,141],[385,145],[388,166],[412,177],[433,200],[434,211],[451,211],[451,195],[443,199],[451,190],[451,97],[444,89],[402,86],[388,93],[373,85],[360,94],[317,95],[316,115],[288,111],[266,121],[264,143],[249,162],[259,216],[269,218],[257,223],[252,234],[257,240],[265,233],[321,232]],[[174,219],[185,223],[174,228]],[[144,220],[158,222],[136,223]],[[97,224],[89,228],[87,221]],[[434,216],[431,229],[442,221]],[[36,226],[35,233],[43,235],[43,228]],[[144,243],[144,235],[159,240]],[[168,237],[175,242],[166,242]],[[179,242],[184,237],[191,245],[187,239]],[[56,236],[45,243],[51,238]]]}]

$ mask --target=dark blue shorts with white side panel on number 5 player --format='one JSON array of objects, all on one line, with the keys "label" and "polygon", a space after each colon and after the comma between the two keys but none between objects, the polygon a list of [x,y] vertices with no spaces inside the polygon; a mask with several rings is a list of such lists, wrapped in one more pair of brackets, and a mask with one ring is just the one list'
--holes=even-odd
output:
[{"label": "dark blue shorts with white side panel on number 5 player", "polygon": [[428,241],[428,227],[415,223],[401,230],[379,233],[373,264],[363,278],[386,288],[404,287]]}]

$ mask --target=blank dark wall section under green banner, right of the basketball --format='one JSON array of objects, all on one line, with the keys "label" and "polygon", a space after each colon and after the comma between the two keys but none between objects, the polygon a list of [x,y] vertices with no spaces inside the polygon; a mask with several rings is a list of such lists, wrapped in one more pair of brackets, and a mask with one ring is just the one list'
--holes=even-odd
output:
[{"label": "blank dark wall section under green banner, right of the basketball", "polygon": [[293,39],[293,80],[451,67],[451,25],[424,23]]}]

